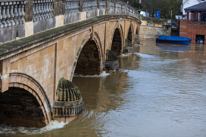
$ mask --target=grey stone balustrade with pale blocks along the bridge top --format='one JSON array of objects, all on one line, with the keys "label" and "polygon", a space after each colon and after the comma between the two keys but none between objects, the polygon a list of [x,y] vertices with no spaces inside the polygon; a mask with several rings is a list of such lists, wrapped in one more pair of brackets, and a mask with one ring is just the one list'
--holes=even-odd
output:
[{"label": "grey stone balustrade with pale blocks along the bridge top", "polygon": [[0,0],[0,43],[106,14],[139,19],[136,9],[117,0]]}]

